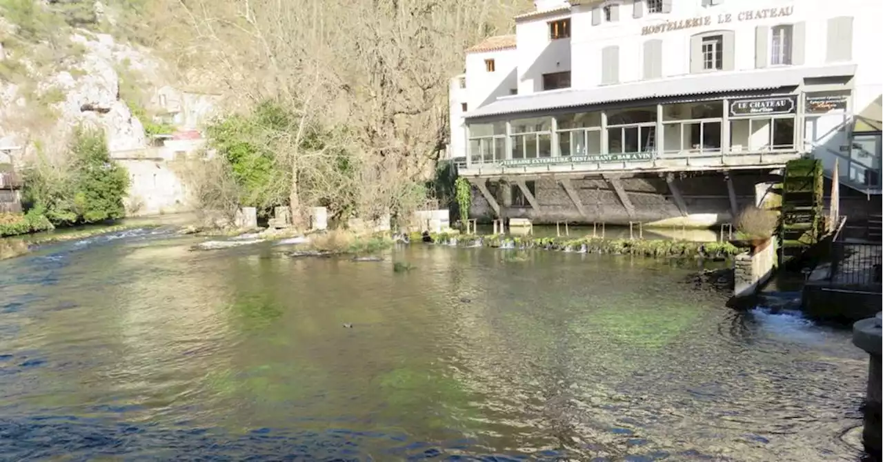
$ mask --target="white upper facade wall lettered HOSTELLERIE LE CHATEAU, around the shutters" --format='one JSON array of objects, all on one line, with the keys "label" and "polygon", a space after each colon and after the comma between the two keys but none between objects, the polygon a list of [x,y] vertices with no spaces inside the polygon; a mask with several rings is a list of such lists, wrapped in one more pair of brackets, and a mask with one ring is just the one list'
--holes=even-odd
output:
[{"label": "white upper facade wall lettered HOSTELLERIE LE CHATEAU, around the shutters", "polygon": [[[714,30],[735,32],[735,71],[755,70],[755,31],[758,26],[775,26],[805,22],[806,66],[826,64],[827,20],[852,16],[854,23],[853,57],[861,63],[857,78],[857,103],[870,102],[883,92],[883,64],[879,62],[879,27],[883,18],[883,2],[878,0],[839,0],[836,9],[829,0],[725,0],[722,4],[702,6],[702,0],[673,0],[670,13],[649,13],[644,8],[641,18],[633,18],[634,0],[622,0],[619,20],[592,26],[592,8],[574,6],[570,14],[545,14],[534,19],[520,19],[516,25],[518,95],[540,91],[542,74],[572,72],[572,87],[585,89],[600,84],[600,52],[610,45],[620,48],[620,81],[641,80],[643,75],[643,44],[647,40],[662,41],[663,78],[676,78],[690,73],[690,39],[694,34]],[[771,8],[789,8],[789,16],[739,20],[740,13]],[[722,23],[729,15],[730,22]],[[744,16],[744,14],[743,14]],[[555,19],[571,19],[571,38],[550,40],[547,23]],[[644,27],[666,24],[667,21],[709,17],[710,25],[687,27],[656,34],[642,34]],[[876,37],[876,38],[875,38]],[[498,52],[499,53],[499,52]],[[467,81],[483,79],[484,55],[472,53],[466,58]],[[507,60],[509,58],[507,57]],[[498,62],[498,71],[503,66]],[[489,92],[483,92],[489,95]],[[484,100],[470,102],[475,109]]]}]

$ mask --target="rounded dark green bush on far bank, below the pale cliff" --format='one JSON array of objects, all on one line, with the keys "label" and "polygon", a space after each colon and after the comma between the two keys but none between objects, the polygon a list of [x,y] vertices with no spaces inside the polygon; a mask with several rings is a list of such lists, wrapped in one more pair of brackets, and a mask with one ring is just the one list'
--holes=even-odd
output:
[{"label": "rounded dark green bush on far bank, below the pale cliff", "polygon": [[[42,159],[44,161],[44,159]],[[69,165],[41,162],[26,170],[26,201],[55,224],[98,223],[125,216],[125,169],[110,160],[104,134],[78,128]]]}]

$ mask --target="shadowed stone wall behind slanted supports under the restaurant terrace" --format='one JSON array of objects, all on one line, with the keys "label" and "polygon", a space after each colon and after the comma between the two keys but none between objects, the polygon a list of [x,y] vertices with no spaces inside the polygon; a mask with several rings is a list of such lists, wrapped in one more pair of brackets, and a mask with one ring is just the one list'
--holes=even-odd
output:
[{"label": "shadowed stone wall behind slanted supports under the restaurant terrace", "polygon": [[[774,180],[776,177],[766,174],[766,170],[734,173],[733,186],[738,208],[755,203],[756,184]],[[524,206],[518,204],[507,206],[511,203],[509,191],[518,189],[514,183],[495,188],[495,197],[502,208],[503,216],[530,218],[533,223],[538,224],[559,221],[628,224],[633,221],[670,226],[707,227],[730,223],[733,219],[727,182],[721,172],[691,174],[673,179],[673,183],[683,197],[685,208],[683,211],[678,207],[666,178],[659,174],[638,174],[630,178],[620,178],[619,181],[627,200],[633,207],[631,214],[623,205],[611,181],[597,176],[570,179],[570,184],[582,201],[585,216],[580,214],[568,193],[551,176],[541,177],[534,182],[535,197],[540,210],[533,209],[526,201]],[[494,193],[492,186],[493,184],[488,182],[488,189]],[[472,195],[472,217],[494,216],[494,210],[477,188],[473,188]]]}]

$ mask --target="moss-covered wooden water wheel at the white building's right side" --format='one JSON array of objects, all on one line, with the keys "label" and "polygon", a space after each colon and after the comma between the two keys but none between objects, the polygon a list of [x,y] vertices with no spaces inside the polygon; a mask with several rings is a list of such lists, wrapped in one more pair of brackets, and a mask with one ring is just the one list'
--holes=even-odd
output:
[{"label": "moss-covered wooden water wheel at the white building's right side", "polygon": [[825,232],[821,161],[798,159],[789,162],[785,166],[781,189],[781,262],[786,262],[803,254]]}]

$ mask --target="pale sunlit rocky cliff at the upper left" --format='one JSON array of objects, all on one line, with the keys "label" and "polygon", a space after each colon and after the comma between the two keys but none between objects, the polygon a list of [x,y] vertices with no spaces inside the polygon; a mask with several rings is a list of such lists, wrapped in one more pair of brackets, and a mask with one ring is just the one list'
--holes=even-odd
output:
[{"label": "pale sunlit rocky cliff at the upper left", "polygon": [[[18,27],[0,21],[2,43],[4,36],[16,36]],[[72,29],[64,41],[61,59],[52,64],[39,62],[45,59],[41,43],[0,49],[0,72],[6,71],[0,73],[0,150],[23,148],[10,151],[13,162],[39,150],[64,150],[80,124],[101,127],[111,152],[147,146],[142,125],[147,121],[133,116],[132,109],[165,83],[162,61],[109,34]]]}]

